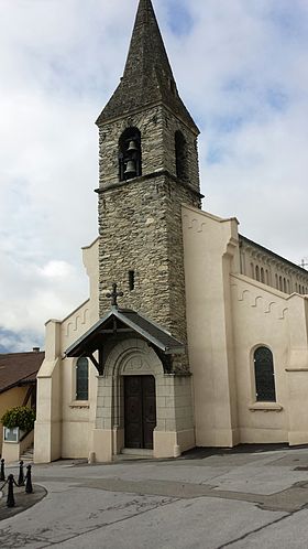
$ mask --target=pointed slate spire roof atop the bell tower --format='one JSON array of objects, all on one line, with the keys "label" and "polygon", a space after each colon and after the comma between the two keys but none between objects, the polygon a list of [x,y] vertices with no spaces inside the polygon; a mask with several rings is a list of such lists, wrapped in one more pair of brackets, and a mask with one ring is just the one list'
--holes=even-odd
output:
[{"label": "pointed slate spire roof atop the bell tower", "polygon": [[198,132],[178,95],[152,1],[140,0],[123,77],[97,125],[162,103]]}]

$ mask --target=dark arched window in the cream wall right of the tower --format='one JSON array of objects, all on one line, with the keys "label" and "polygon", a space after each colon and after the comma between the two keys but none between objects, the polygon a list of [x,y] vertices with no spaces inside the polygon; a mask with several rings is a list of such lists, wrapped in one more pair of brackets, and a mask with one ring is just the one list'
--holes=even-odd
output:
[{"label": "dark arched window in the cream wall right of the tower", "polygon": [[253,356],[255,397],[260,402],[275,402],[275,374],[273,353],[268,347],[257,347]]}]

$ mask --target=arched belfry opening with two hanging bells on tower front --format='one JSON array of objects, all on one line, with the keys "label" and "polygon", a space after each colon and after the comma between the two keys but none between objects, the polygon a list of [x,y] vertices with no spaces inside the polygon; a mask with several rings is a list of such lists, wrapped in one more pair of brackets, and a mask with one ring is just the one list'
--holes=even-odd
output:
[{"label": "arched belfry opening with two hanging bells on tower front", "polygon": [[119,180],[131,180],[141,174],[141,133],[138,128],[128,128],[119,140]]}]

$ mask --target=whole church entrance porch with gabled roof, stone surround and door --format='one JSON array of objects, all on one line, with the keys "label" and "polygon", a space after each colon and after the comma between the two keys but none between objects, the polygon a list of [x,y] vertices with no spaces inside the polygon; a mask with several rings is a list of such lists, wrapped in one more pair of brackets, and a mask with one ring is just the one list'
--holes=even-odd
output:
[{"label": "whole church entrance porch with gabled roof, stone surround and door", "polygon": [[110,462],[130,450],[173,458],[195,446],[191,376],[172,367],[184,353],[157,324],[117,305],[66,351],[88,356],[98,372],[90,461]]}]

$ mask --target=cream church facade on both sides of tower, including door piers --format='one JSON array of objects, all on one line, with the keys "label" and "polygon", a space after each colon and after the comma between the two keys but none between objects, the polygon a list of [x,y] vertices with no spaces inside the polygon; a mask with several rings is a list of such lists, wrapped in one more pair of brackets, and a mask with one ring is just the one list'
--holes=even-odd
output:
[{"label": "cream church facade on both sides of tower, including door piers", "polygon": [[[46,358],[37,378],[36,462],[89,455],[110,461],[120,453],[127,375],[155,377],[157,458],[194,445],[308,443],[308,297],[241,273],[235,218],[184,206],[183,227],[191,377],[164,374],[154,351],[136,337],[114,346],[103,376],[90,365],[89,400],[75,400],[76,359],[64,353],[98,320],[96,240],[84,249],[89,300],[64,321],[46,324]],[[253,352],[260,345],[274,356],[275,402],[255,398]]]}]

